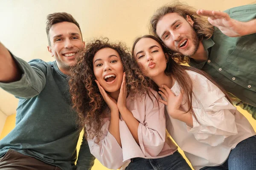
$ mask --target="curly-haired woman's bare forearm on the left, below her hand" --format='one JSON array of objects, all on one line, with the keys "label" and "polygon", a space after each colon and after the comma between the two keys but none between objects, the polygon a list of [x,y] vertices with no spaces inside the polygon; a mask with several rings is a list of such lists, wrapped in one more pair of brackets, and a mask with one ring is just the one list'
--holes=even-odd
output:
[{"label": "curly-haired woman's bare forearm on the left, below her hand", "polygon": [[111,119],[108,131],[115,137],[120,147],[122,147],[119,132],[119,111],[111,112]]}]

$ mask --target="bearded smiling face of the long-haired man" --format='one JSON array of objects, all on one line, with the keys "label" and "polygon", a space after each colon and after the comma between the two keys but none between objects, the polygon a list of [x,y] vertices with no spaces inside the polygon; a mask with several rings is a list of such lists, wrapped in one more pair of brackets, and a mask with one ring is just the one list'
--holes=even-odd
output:
[{"label": "bearded smiling face of the long-haired man", "polygon": [[193,24],[189,16],[185,19],[177,13],[168,13],[158,21],[156,33],[172,51],[191,57],[199,46]]}]

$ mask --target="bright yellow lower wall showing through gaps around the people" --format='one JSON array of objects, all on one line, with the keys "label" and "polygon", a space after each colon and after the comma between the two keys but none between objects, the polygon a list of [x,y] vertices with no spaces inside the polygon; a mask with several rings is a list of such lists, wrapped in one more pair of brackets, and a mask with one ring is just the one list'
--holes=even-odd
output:
[{"label": "bright yellow lower wall showing through gaps around the people", "polygon": [[[249,120],[250,124],[253,125],[253,128],[256,131],[256,120],[254,120],[249,113],[242,110],[241,108],[238,108],[238,110],[241,113],[243,113],[243,115]],[[13,114],[13,115],[7,117],[6,123],[3,127],[3,131],[0,135],[0,140],[3,139],[3,137],[6,136],[15,127],[15,116],[16,116],[16,114]],[[82,142],[82,133],[79,137],[79,141],[78,141],[78,144],[77,144],[77,150],[79,150],[81,142]],[[182,150],[180,150],[180,148],[179,148],[179,151],[184,156],[184,153],[183,153]],[[189,163],[189,161],[187,159],[186,159],[186,161]],[[96,160],[92,170],[108,170],[108,168],[102,166],[102,164],[98,160]]]}]

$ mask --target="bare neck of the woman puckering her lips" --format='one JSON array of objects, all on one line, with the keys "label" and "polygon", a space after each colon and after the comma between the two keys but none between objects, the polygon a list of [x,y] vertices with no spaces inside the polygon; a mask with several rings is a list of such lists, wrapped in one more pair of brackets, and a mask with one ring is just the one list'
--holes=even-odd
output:
[{"label": "bare neck of the woman puckering her lips", "polygon": [[167,85],[168,88],[172,88],[174,84],[172,76],[167,76],[164,72],[155,77],[151,77],[151,79],[157,84],[158,87],[162,87],[161,85],[164,84]]}]

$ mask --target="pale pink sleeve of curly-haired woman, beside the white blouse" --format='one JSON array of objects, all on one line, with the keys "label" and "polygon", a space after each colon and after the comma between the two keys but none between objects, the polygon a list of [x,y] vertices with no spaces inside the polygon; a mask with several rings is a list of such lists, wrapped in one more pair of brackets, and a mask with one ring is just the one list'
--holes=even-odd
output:
[{"label": "pale pink sleeve of curly-haired woman, beside the white blouse", "polygon": [[[141,150],[145,156],[157,156],[163,149],[166,137],[166,119],[164,105],[157,100],[160,99],[156,91],[152,91],[156,96],[151,96],[152,100],[145,97],[145,120],[139,124],[138,137]],[[138,102],[138,105],[141,103]],[[141,113],[138,113],[141,114]]]}]

